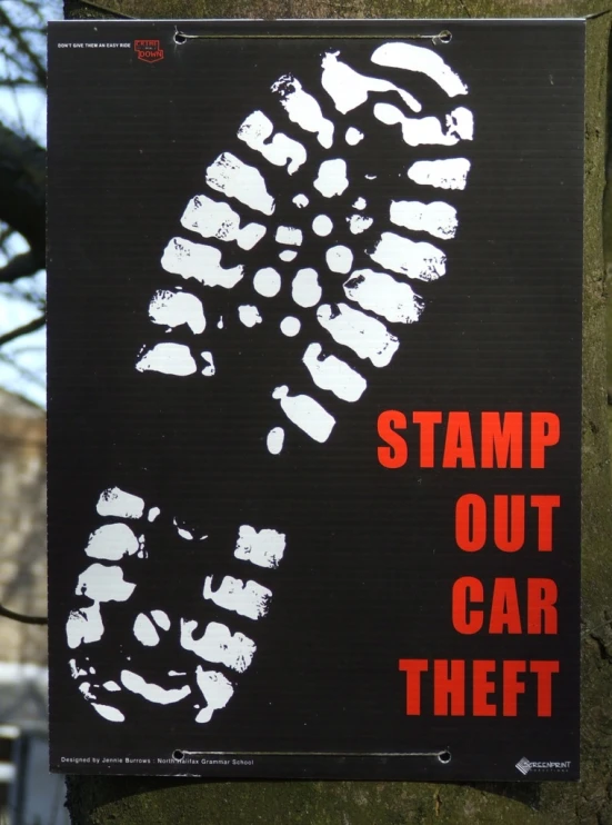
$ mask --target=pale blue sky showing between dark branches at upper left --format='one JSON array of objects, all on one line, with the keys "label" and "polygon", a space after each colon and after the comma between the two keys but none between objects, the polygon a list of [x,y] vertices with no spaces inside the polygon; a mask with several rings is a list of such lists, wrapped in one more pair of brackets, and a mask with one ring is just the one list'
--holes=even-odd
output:
[{"label": "pale blue sky showing between dark branches at upper left", "polygon": [[[61,20],[60,0],[43,0],[38,3],[49,20]],[[22,12],[21,0],[0,0],[0,9],[11,14]],[[32,44],[42,44],[40,36],[32,36]],[[10,42],[0,42],[0,78],[11,71],[6,52]],[[0,86],[0,121],[20,133],[30,135],[41,146],[47,145],[46,95],[34,88],[9,89]],[[28,247],[20,236],[8,241],[10,255]],[[0,251],[0,266],[7,258]],[[46,274],[33,278],[21,278],[14,284],[0,284],[0,335],[33,320],[40,315],[44,297]],[[0,387],[18,392],[34,404],[46,406],[46,330],[39,329],[20,337],[0,348]]]}]

